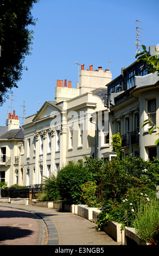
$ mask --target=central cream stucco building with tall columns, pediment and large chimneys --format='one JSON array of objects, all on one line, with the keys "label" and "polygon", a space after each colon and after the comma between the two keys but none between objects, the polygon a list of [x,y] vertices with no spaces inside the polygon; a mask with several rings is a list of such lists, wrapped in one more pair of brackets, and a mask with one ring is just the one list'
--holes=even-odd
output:
[{"label": "central cream stucco building with tall columns, pediment and large chimneys", "polygon": [[56,175],[63,164],[84,160],[83,155],[97,157],[97,127],[92,113],[106,109],[105,85],[111,81],[111,72],[101,67],[96,71],[83,68],[82,65],[77,88],[72,88],[70,81],[67,86],[65,80],[63,86],[58,80],[55,101],[46,101],[39,112],[26,118],[23,126],[24,185],[40,184],[43,176]]}]

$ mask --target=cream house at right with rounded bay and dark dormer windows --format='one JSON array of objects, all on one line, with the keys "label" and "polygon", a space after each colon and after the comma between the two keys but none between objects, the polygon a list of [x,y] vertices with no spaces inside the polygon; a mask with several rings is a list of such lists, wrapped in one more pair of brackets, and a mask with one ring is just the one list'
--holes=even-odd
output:
[{"label": "cream house at right with rounded bay and dark dormer windows", "polygon": [[[150,51],[151,52],[151,51]],[[120,86],[120,91],[116,91]],[[122,69],[122,75],[107,84],[110,100],[110,138],[120,132],[123,155],[132,154],[144,160],[159,157],[155,145],[157,130],[149,134],[144,120],[159,125],[159,90],[157,72],[148,71],[145,63],[135,62]],[[110,141],[111,144],[111,141]]]}]

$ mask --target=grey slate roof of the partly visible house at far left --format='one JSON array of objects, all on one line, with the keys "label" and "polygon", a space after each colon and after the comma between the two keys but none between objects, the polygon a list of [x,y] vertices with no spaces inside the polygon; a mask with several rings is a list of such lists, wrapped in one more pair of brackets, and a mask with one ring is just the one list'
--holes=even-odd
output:
[{"label": "grey slate roof of the partly visible house at far left", "polygon": [[0,139],[24,139],[24,130],[12,129],[0,135]]}]

